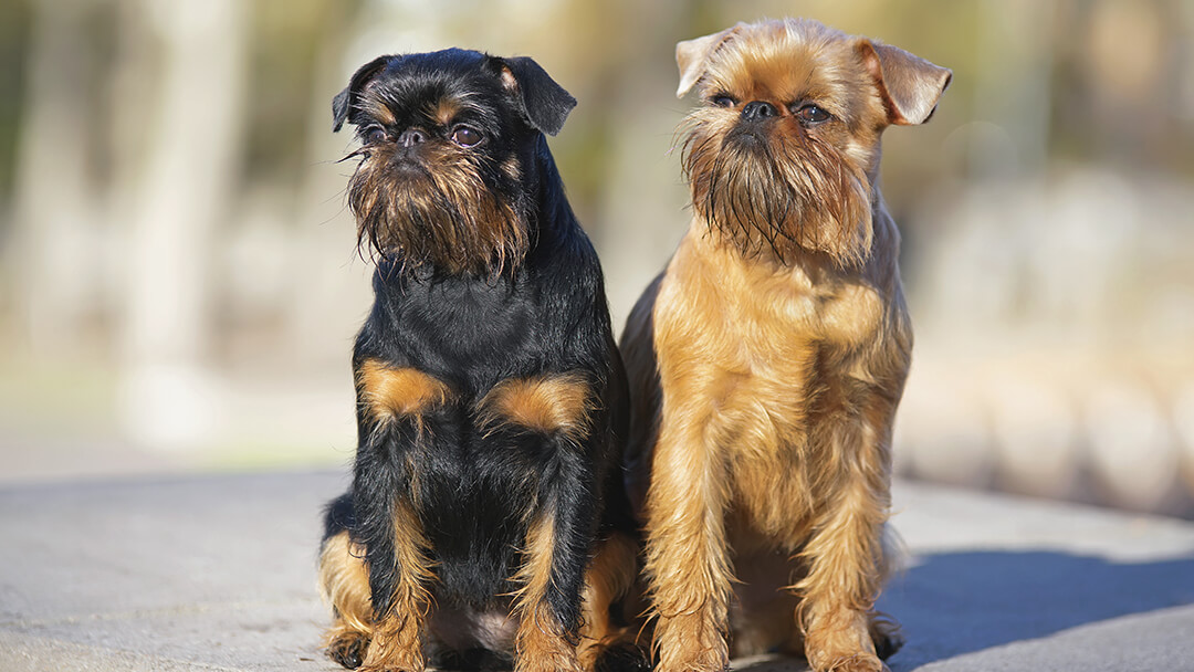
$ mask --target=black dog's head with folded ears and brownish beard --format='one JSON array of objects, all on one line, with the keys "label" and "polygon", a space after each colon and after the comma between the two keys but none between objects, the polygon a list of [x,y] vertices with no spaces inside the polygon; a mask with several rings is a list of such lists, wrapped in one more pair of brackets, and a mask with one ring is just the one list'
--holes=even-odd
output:
[{"label": "black dog's head with folded ears and brownish beard", "polygon": [[530,245],[542,134],[576,100],[533,60],[447,49],[382,56],[332,101],[356,127],[358,247],[402,267],[492,275]]}]

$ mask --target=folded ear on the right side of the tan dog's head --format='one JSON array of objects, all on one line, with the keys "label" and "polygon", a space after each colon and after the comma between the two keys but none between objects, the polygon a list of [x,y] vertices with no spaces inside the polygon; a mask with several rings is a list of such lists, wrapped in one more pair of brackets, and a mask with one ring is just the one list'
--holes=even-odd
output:
[{"label": "folded ear on the right side of the tan dog's head", "polygon": [[887,123],[911,125],[929,121],[954,73],[903,49],[862,39],[862,62],[879,86]]}]

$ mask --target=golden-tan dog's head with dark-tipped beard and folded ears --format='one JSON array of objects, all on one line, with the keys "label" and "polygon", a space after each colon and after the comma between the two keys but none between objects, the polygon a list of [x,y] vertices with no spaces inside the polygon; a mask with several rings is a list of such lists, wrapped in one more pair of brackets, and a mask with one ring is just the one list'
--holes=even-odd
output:
[{"label": "golden-tan dog's head with dark-tipped beard and folded ears", "polygon": [[929,119],[952,73],[808,19],[738,24],[676,47],[697,214],[745,254],[796,251],[839,265],[872,239],[880,135]]}]

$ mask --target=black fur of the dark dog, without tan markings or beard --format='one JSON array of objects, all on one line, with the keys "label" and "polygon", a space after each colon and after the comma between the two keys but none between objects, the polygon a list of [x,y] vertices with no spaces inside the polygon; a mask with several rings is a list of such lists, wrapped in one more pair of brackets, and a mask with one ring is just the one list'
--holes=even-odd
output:
[{"label": "black fur of the dark dog, without tan markings or beard", "polygon": [[[506,69],[516,93],[503,86]],[[627,390],[602,271],[542,135],[558,131],[576,101],[529,58],[456,49],[384,56],[336,97],[337,129],[378,123],[361,104],[365,91],[386,101],[398,127],[430,127],[420,115],[444,97],[469,100],[462,113],[486,136],[478,146],[485,154],[480,186],[525,217],[530,246],[518,264],[488,275],[411,265],[401,249],[382,251],[353,370],[365,360],[413,368],[447,383],[451,400],[425,414],[421,430],[412,420],[378,425],[358,403],[352,489],[328,505],[325,538],[347,530],[364,547],[374,615],[381,617],[396,580],[394,507],[405,503],[430,542],[435,603],[504,609],[528,524],[552,512],[556,544],[547,600],[574,639],[595,542],[614,529],[633,530],[617,467]],[[517,181],[499,169],[509,159],[521,168]],[[496,384],[553,374],[580,374],[595,393],[584,438],[480,426],[476,405]],[[460,651],[432,662],[488,668],[497,659]]]}]

